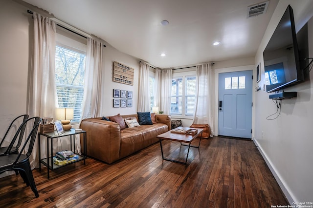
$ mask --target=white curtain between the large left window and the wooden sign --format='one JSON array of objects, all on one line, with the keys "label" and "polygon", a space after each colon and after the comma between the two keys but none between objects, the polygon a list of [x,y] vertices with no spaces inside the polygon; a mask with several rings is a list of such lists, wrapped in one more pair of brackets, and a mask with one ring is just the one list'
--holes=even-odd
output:
[{"label": "white curtain between the large left window and the wooden sign", "polygon": [[102,115],[102,43],[88,38],[82,119]]}]

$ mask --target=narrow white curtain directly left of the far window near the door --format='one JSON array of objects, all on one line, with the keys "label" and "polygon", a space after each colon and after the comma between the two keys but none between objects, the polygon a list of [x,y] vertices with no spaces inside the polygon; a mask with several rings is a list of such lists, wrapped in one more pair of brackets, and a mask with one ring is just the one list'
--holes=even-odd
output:
[{"label": "narrow white curtain directly left of the far window near the door", "polygon": [[160,92],[160,111],[170,114],[171,92],[172,92],[172,69],[161,70],[161,92]]}]

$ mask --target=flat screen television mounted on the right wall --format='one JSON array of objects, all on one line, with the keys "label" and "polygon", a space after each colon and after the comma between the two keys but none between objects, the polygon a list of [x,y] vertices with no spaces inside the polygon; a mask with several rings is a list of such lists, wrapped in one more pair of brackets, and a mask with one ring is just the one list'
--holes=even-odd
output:
[{"label": "flat screen television mounted on the right wall", "polygon": [[290,5],[269,39],[263,57],[267,93],[304,80],[303,71],[300,69],[293,11]]}]

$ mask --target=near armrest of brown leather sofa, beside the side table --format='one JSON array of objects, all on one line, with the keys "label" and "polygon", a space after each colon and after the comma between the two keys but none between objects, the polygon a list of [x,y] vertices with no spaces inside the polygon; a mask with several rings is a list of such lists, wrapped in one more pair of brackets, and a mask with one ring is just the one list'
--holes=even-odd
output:
[{"label": "near armrest of brown leather sofa, beside the side table", "polygon": [[121,132],[117,123],[87,118],[82,120],[80,128],[87,132],[87,155],[109,164],[119,159]]}]

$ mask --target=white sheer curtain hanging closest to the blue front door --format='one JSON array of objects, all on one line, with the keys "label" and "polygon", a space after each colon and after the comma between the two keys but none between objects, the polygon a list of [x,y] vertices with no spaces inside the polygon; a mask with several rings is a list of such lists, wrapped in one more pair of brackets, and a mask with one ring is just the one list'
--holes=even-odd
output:
[{"label": "white sheer curtain hanging closest to the blue front door", "polygon": [[214,135],[215,76],[211,64],[199,64],[196,71],[195,116],[193,123],[208,124]]}]

